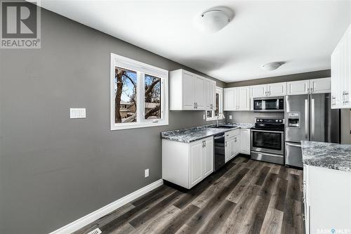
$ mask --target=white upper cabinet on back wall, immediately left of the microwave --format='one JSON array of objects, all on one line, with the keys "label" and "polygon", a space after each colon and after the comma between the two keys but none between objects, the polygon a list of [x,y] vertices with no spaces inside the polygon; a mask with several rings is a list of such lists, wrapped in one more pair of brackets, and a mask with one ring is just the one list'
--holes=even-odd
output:
[{"label": "white upper cabinet on back wall, immediately left of the microwave", "polygon": [[224,89],[224,110],[250,110],[249,86]]}]

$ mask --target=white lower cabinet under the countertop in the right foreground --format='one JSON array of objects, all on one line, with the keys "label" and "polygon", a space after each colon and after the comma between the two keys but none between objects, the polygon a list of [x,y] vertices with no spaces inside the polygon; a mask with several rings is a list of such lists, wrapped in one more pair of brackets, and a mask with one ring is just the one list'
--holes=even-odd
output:
[{"label": "white lower cabinet under the countertop in the right foreground", "polygon": [[351,172],[304,165],[306,233],[350,233],[350,197]]}]

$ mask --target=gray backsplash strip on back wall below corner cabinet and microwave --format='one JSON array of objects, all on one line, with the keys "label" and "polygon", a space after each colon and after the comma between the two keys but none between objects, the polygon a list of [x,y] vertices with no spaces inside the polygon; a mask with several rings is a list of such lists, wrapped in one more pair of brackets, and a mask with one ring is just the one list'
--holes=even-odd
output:
[{"label": "gray backsplash strip on back wall below corner cabinet and microwave", "polygon": [[[254,123],[256,117],[284,117],[284,112],[225,111],[227,123]],[[229,118],[232,115],[232,119]]]}]

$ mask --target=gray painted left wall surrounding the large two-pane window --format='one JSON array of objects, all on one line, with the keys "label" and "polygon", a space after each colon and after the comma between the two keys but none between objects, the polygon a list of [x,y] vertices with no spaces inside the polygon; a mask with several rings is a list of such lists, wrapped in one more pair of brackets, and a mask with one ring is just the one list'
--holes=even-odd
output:
[{"label": "gray painted left wall surrounding the large two-pane window", "polygon": [[[208,124],[204,112],[183,111],[168,126],[110,131],[111,52],[194,70],[41,13],[41,49],[0,52],[0,233],[48,233],[157,181],[160,132]],[[86,119],[69,119],[71,107]]]}]

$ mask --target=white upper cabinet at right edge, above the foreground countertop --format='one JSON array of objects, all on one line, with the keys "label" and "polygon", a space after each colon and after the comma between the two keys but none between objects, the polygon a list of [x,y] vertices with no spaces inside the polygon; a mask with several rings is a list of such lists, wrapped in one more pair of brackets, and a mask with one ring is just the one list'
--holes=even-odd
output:
[{"label": "white upper cabinet at right edge, above the foreground countertop", "polygon": [[331,108],[351,108],[351,25],[331,54]]}]

